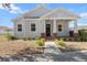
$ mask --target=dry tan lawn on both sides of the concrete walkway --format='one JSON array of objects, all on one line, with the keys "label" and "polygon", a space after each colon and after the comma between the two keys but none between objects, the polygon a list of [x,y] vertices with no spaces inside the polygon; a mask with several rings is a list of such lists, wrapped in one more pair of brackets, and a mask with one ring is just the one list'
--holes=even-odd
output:
[{"label": "dry tan lawn on both sides of the concrete walkway", "polygon": [[[87,42],[65,42],[66,48],[65,51],[72,52],[75,51],[87,51]],[[15,40],[15,41],[8,41],[4,35],[0,35],[0,56],[4,55],[13,55],[18,54],[21,51],[25,51],[35,53],[37,50],[37,45],[35,44],[34,40],[31,41],[23,41],[23,40]],[[31,51],[30,51],[31,50]]]}]

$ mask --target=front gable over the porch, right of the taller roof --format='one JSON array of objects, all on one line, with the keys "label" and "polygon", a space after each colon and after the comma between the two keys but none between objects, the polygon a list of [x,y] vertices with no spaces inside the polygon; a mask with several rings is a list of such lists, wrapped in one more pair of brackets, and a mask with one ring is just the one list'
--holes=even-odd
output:
[{"label": "front gable over the porch, right of the taller roof", "polygon": [[73,18],[73,19],[78,19],[79,15],[75,14],[75,13],[72,13],[65,9],[58,9],[58,10],[55,10],[53,12],[50,12],[45,15],[43,15],[42,18],[55,18],[55,19],[69,19],[69,18]]}]

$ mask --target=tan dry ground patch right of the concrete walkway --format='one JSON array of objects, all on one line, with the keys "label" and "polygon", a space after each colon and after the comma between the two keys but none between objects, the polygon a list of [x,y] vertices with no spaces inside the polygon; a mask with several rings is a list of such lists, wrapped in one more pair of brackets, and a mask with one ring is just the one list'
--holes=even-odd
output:
[{"label": "tan dry ground patch right of the concrete walkway", "polygon": [[87,51],[87,42],[66,42],[66,46],[59,48],[62,52]]}]

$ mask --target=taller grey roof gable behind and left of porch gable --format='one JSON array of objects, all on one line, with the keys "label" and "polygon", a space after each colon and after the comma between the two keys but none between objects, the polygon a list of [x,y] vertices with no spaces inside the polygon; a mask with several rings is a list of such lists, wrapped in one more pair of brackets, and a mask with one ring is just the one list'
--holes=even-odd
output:
[{"label": "taller grey roof gable behind and left of porch gable", "polygon": [[37,8],[35,8],[34,10],[28,11],[26,13],[23,14],[23,17],[25,18],[40,18],[44,14],[47,14],[48,12],[51,12],[52,10],[44,7],[44,6],[40,6]]}]

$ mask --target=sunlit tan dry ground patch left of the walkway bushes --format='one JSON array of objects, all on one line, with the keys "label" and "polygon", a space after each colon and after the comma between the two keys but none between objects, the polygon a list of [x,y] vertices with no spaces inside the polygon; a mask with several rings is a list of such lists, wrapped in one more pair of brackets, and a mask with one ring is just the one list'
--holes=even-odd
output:
[{"label": "sunlit tan dry ground patch left of the walkway bushes", "polygon": [[13,55],[28,47],[36,47],[34,41],[8,41],[0,43],[0,56]]}]

